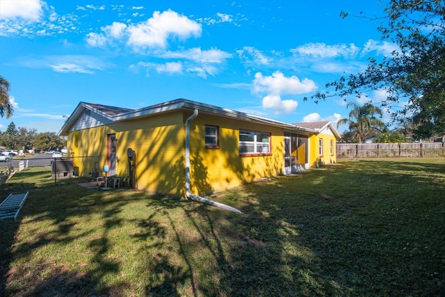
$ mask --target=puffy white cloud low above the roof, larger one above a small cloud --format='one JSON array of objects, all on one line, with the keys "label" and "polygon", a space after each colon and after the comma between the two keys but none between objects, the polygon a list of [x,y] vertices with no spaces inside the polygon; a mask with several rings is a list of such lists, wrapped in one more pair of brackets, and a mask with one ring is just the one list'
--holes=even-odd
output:
[{"label": "puffy white cloud low above the roof, larger one above a small cloud", "polygon": [[253,93],[268,93],[272,95],[302,94],[316,90],[316,84],[311,79],[300,81],[298,77],[284,77],[280,71],[275,71],[270,77],[264,77],[261,72],[255,74]]}]

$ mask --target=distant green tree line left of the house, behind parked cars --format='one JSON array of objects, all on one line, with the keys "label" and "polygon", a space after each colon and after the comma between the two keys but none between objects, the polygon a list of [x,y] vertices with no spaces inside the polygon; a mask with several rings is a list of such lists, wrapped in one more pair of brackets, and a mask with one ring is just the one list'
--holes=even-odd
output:
[{"label": "distant green tree line left of the house, behind parked cars", "polygon": [[66,145],[66,139],[54,132],[37,133],[36,129],[17,128],[14,122],[6,131],[0,131],[0,146],[8,150],[54,150]]}]

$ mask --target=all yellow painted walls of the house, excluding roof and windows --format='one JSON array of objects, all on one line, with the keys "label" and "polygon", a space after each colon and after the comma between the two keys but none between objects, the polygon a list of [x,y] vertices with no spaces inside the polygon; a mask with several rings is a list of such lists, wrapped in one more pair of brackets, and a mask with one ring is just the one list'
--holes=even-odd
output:
[{"label": "all yellow painted walls of the house, excluding roof and windows", "polygon": [[[156,193],[184,196],[185,184],[185,121],[192,111],[175,111],[132,119],[111,125],[70,132],[67,147],[74,156],[99,156],[99,169],[107,163],[107,135],[118,139],[116,156],[119,161],[116,174],[128,175],[127,149],[136,152],[138,189]],[[205,125],[219,127],[220,148],[205,147]],[[240,156],[239,129],[270,133],[270,155]],[[330,139],[334,136],[318,134],[309,138],[309,164],[314,166],[318,157],[318,138],[323,137],[323,161],[332,162]],[[298,154],[305,152],[298,151]],[[191,120],[191,193],[202,195],[224,191],[260,177],[284,173],[284,131],[251,122],[223,118],[200,112]],[[300,159],[300,158],[299,158]],[[303,159],[303,158],[301,158]],[[92,165],[80,164],[81,175],[88,176]],[[102,170],[101,170],[102,171]],[[101,172],[102,174],[102,172]],[[103,175],[103,174],[102,174]]]}]

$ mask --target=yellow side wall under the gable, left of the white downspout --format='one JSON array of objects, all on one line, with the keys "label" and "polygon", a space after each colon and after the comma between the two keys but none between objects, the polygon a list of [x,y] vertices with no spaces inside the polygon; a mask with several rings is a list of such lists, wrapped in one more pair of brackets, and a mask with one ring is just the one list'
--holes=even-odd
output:
[{"label": "yellow side wall under the gable, left of the white downspout", "polygon": [[[72,147],[74,156],[99,155],[99,168],[102,168],[108,163],[108,134],[115,134],[118,139],[117,175],[128,175],[127,150],[131,147],[136,152],[138,189],[181,194],[184,188],[184,126],[181,112],[70,132],[67,147]],[[91,168],[79,166],[83,176],[88,176],[88,170]]]}]

